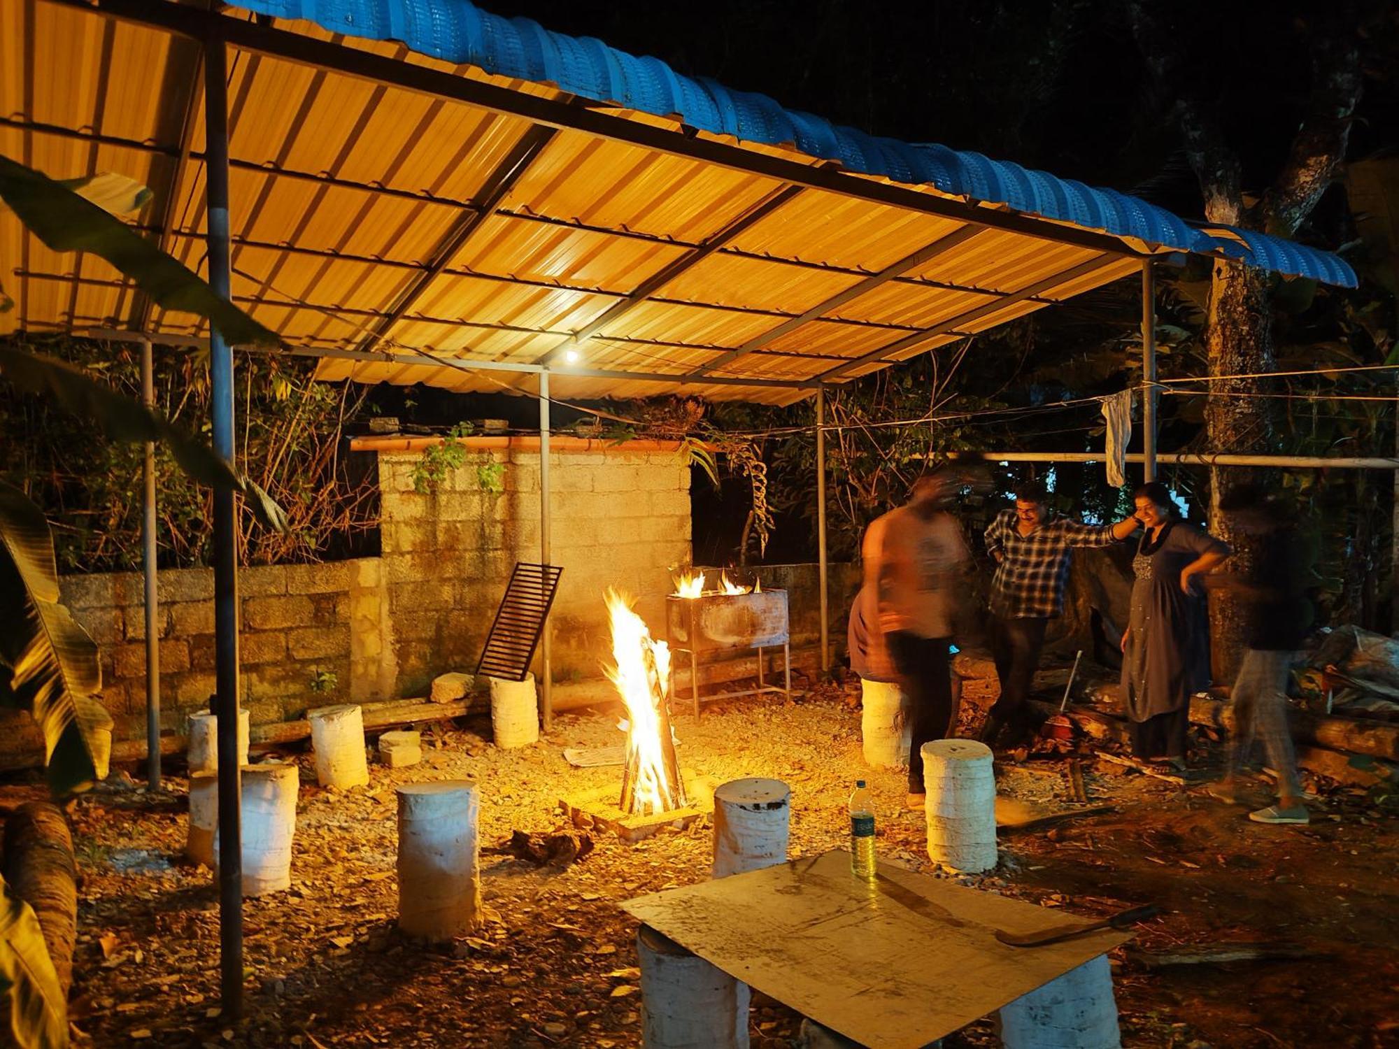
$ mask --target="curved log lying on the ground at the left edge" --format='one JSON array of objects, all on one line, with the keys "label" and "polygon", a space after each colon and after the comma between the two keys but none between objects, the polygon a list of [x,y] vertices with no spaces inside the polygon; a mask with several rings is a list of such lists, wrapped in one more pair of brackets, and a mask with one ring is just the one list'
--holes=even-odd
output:
[{"label": "curved log lying on the ground at the left edge", "polygon": [[66,996],[78,933],[77,862],[69,822],[52,801],[29,801],[6,820],[4,880],[34,908]]}]

